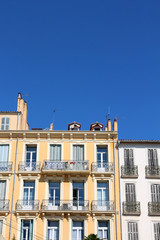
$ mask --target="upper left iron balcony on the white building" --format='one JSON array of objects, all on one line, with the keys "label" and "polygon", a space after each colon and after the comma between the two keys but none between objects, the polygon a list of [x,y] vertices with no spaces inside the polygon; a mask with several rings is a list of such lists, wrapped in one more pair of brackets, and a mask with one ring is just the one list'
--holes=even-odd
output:
[{"label": "upper left iron balcony on the white building", "polygon": [[138,178],[138,166],[121,166],[122,178]]}]

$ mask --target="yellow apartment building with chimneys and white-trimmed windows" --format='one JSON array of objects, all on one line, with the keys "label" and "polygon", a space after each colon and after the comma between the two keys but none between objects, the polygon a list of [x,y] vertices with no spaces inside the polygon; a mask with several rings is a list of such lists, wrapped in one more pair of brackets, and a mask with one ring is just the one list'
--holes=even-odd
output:
[{"label": "yellow apartment building with chimneys and white-trimmed windows", "polygon": [[16,240],[120,240],[117,121],[29,130],[27,103],[0,112],[0,234]]}]

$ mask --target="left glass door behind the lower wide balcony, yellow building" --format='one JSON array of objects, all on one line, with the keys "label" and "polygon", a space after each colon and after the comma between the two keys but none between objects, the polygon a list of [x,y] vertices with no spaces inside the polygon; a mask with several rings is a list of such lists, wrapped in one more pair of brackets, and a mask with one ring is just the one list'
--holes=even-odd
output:
[{"label": "left glass door behind the lower wide balcony, yellow building", "polygon": [[49,209],[58,209],[60,205],[60,183],[49,182]]}]

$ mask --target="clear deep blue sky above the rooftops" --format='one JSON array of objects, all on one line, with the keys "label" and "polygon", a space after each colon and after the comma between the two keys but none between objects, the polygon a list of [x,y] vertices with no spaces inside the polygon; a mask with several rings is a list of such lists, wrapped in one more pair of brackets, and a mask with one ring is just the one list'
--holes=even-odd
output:
[{"label": "clear deep blue sky above the rooftops", "polygon": [[[82,130],[120,117],[119,137],[160,139],[160,1],[0,1],[0,110],[32,127]],[[124,117],[124,118],[123,118]]]}]

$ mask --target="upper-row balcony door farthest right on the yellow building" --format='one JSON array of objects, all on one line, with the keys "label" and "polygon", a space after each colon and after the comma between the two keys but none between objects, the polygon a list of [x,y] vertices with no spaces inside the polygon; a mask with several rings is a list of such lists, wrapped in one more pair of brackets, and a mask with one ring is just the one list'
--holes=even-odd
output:
[{"label": "upper-row balcony door farthest right on the yellow building", "polygon": [[97,170],[105,171],[106,163],[108,162],[107,146],[97,146]]}]

